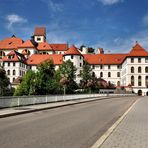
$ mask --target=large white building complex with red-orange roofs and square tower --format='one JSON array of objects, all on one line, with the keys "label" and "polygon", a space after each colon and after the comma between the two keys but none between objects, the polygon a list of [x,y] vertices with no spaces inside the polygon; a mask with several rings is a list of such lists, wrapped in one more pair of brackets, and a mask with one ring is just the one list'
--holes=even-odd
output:
[{"label": "large white building complex with red-orange roofs and square tower", "polygon": [[63,61],[71,60],[77,68],[77,83],[81,80],[79,73],[83,63],[87,61],[96,77],[118,87],[130,85],[135,93],[148,95],[148,52],[138,42],[125,54],[105,54],[102,48],[92,52],[92,48],[85,46],[78,49],[67,43],[48,43],[44,27],[35,28],[32,38],[27,41],[14,35],[0,41],[0,62],[14,87],[27,70],[36,71],[37,65],[47,59],[53,60],[55,69]]}]

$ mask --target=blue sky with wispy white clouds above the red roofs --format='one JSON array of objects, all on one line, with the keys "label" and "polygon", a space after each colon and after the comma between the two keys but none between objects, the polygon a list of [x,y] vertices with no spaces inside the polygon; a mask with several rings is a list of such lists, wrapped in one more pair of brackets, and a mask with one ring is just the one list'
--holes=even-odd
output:
[{"label": "blue sky with wispy white clouds above the red roofs", "polygon": [[148,0],[0,0],[0,39],[23,40],[45,26],[50,43],[127,52],[148,49]]}]

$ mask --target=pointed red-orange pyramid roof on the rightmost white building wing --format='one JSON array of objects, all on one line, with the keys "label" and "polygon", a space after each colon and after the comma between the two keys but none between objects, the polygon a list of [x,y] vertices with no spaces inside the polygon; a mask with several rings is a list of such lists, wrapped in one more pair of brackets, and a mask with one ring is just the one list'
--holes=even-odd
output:
[{"label": "pointed red-orange pyramid roof on the rightmost white building wing", "polygon": [[136,43],[129,56],[148,56],[148,52],[139,43]]}]

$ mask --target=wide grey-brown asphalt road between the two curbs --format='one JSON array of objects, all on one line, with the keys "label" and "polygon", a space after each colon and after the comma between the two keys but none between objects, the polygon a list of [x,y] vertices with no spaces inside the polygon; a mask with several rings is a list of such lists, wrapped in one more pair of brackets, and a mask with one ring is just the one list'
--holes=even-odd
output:
[{"label": "wide grey-brown asphalt road between the two curbs", "polygon": [[0,148],[89,148],[129,108],[112,98],[0,119]]}]

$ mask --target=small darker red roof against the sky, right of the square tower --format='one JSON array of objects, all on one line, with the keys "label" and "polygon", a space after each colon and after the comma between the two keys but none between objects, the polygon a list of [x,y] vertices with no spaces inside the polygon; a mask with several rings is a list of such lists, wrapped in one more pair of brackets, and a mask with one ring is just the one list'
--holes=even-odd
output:
[{"label": "small darker red roof against the sky, right of the square tower", "polygon": [[55,51],[66,51],[68,49],[68,44],[49,44],[49,45]]}]

